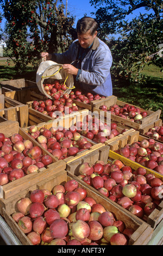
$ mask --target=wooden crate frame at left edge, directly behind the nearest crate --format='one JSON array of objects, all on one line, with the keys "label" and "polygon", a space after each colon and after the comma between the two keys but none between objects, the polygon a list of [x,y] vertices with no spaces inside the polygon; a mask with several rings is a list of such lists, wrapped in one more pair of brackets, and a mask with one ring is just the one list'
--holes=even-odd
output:
[{"label": "wooden crate frame at left edge, directly behind the nearest crate", "polygon": [[[30,141],[33,142],[34,146],[40,147],[42,155],[50,155],[52,157],[53,162],[49,164],[46,168],[40,168],[38,173],[30,173],[28,175],[23,176],[21,179],[14,180],[12,182],[9,182],[8,184],[3,185],[1,196],[4,199],[10,198],[14,194],[17,194],[18,192],[22,191],[25,188],[27,189],[28,187],[35,184],[38,180],[45,179],[54,173],[57,174],[60,170],[65,169],[66,167],[66,163],[64,161],[58,161],[51,153],[49,153],[46,149],[41,147],[41,145],[37,143],[35,139],[30,137],[26,132],[23,131],[23,129],[21,129],[21,127],[18,126],[18,123],[14,124],[14,122],[12,122],[10,123],[10,125],[11,130],[3,130],[5,137],[10,137],[14,133],[19,133],[23,137],[23,139],[29,139]],[[0,132],[2,132],[1,129]]]}]

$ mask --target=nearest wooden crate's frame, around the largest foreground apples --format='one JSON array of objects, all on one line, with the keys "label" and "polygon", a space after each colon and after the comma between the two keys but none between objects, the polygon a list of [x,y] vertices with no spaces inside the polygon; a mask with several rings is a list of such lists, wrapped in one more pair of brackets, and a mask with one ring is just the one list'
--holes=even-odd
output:
[{"label": "nearest wooden crate's frame, around the largest foreground apples", "polygon": [[[37,189],[48,188],[48,190],[52,190],[55,185],[64,185],[66,181],[72,180],[74,177],[67,176],[66,172],[62,172],[57,178],[51,176],[48,180],[38,182],[36,186],[33,186],[29,189],[29,191],[33,191]],[[153,234],[153,229],[149,227],[149,225],[138,218],[131,218],[123,210],[117,208],[117,206],[112,203],[106,201],[103,197],[99,196],[96,192],[90,190],[90,188],[86,187],[84,184],[78,182],[79,187],[83,187],[87,191],[87,196],[92,197],[96,200],[98,204],[102,204],[106,211],[114,212],[117,220],[122,220],[126,224],[127,228],[133,228],[135,231],[133,235],[130,237],[129,245],[146,245],[147,242],[151,239]],[[10,202],[4,202],[3,204],[3,216],[4,220],[8,223],[11,230],[18,237],[18,239],[22,242],[22,245],[31,245],[30,241],[27,239],[27,236],[21,231],[18,227],[17,223],[12,219],[11,214],[15,212],[15,203],[23,198],[29,197],[29,191],[22,191],[22,193],[15,197],[12,197]]]}]

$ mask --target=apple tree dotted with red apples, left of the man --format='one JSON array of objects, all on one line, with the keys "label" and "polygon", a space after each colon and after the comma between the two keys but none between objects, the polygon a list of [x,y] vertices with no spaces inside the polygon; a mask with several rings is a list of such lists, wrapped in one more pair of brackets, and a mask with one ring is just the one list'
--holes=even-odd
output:
[{"label": "apple tree dotted with red apples, left of the man", "polygon": [[19,71],[29,63],[37,66],[42,51],[67,50],[75,36],[74,17],[64,15],[61,1],[0,0],[0,3],[7,20],[9,57]]}]

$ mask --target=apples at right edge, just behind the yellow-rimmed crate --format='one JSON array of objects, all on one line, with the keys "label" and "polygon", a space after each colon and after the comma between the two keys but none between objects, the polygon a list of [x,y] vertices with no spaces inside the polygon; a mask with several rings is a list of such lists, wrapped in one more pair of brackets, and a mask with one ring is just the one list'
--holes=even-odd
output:
[{"label": "apples at right edge, just behind the yellow-rimmed crate", "polygon": [[115,152],[163,174],[163,144],[152,138],[127,144]]}]

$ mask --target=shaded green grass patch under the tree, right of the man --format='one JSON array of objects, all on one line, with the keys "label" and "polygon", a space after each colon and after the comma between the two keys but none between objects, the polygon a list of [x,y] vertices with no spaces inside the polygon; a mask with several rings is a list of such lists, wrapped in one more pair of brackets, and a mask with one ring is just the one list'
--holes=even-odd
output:
[{"label": "shaded green grass patch under the tree, right of the man", "polygon": [[[143,109],[163,111],[163,72],[151,65],[146,66],[142,73],[148,77],[145,84],[112,81],[113,94],[118,97],[118,100]],[[163,119],[163,113],[161,113],[161,119]]]}]

